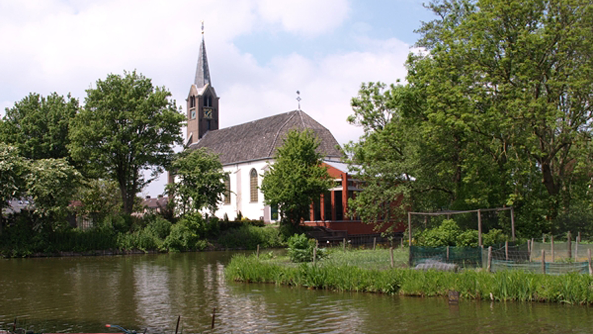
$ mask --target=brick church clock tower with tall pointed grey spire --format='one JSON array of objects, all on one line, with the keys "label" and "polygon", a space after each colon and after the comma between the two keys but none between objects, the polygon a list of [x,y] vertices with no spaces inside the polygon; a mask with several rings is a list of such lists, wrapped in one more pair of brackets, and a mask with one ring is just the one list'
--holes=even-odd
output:
[{"label": "brick church clock tower with tall pointed grey spire", "polygon": [[202,23],[202,43],[197,57],[196,77],[186,99],[187,146],[197,143],[208,131],[218,130],[218,99],[210,81]]}]

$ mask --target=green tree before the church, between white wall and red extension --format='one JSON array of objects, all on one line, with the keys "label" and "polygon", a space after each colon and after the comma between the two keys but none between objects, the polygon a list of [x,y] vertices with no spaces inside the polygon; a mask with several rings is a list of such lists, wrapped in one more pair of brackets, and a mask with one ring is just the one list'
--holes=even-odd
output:
[{"label": "green tree before the church, between white wall and red extension", "polygon": [[293,226],[308,217],[314,198],[331,187],[318,146],[313,131],[289,131],[275,153],[275,162],[263,174],[264,202],[278,206],[282,221]]}]

